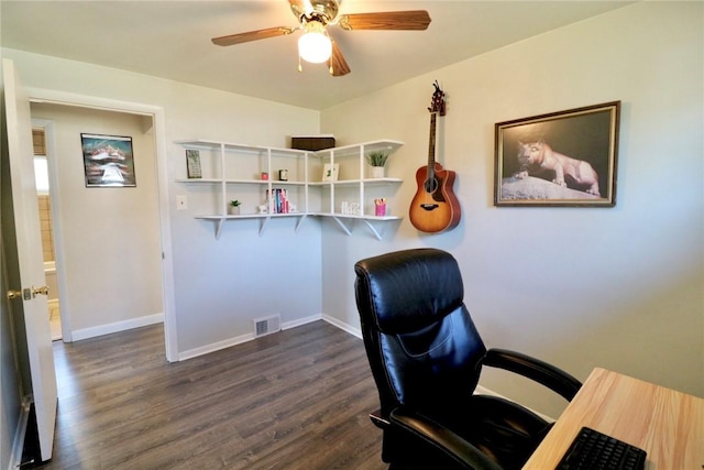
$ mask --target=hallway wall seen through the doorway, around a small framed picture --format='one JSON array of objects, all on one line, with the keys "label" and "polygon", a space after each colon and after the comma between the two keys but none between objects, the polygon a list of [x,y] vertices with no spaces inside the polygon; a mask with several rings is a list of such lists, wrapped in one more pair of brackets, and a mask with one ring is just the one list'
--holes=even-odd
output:
[{"label": "hallway wall seen through the doorway, around a small framed picture", "polygon": [[[54,123],[54,223],[66,273],[62,315],[70,317],[76,339],[84,330],[163,314],[156,152],[145,127],[151,119],[48,103],[32,103],[32,117]],[[136,187],[87,188],[81,133],[131,136]]]}]

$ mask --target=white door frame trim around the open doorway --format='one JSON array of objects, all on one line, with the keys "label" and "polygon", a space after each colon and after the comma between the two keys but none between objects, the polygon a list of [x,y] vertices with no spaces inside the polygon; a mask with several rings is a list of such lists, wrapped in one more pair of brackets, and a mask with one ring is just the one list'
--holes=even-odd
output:
[{"label": "white door frame trim around the open doorway", "polygon": [[158,218],[162,242],[162,288],[164,305],[164,346],[166,360],[178,361],[178,335],[176,329],[176,308],[174,292],[174,261],[168,206],[168,179],[166,159],[166,124],[164,108],[131,101],[121,101],[89,95],[79,95],[46,88],[26,87],[30,102],[92,108],[108,111],[142,114],[152,118],[154,144],[156,151],[156,186],[158,194]]}]

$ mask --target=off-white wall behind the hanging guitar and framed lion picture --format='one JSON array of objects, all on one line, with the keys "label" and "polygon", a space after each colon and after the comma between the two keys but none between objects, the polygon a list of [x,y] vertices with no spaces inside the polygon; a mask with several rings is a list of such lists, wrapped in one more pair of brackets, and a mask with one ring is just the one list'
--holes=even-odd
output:
[{"label": "off-white wall behind the hanging guitar and framed lion picture", "polygon": [[[458,258],[487,346],[704,396],[702,19],[700,2],[640,2],[324,110],[321,131],[339,140],[405,142],[388,173],[406,182],[391,201],[406,214],[438,79],[438,157],[458,173],[463,215],[436,236],[406,217],[381,243],[327,225],[323,310],[359,328],[352,264],[437,247]],[[615,208],[493,207],[494,123],[610,100],[623,106]],[[559,413],[503,375],[483,383]]]}]

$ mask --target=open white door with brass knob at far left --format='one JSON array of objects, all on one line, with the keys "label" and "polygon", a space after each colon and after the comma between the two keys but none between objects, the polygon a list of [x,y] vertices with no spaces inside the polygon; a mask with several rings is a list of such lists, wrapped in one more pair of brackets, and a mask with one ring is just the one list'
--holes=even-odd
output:
[{"label": "open white door with brass knob at far left", "polygon": [[2,59],[4,80],[8,154],[12,184],[12,207],[16,240],[7,240],[11,250],[16,243],[20,281],[9,286],[19,293],[12,308],[24,311],[26,346],[32,375],[32,394],[36,412],[42,460],[52,458],[56,423],[56,372],[48,309],[46,305],[44,260],[40,229],[38,203],[34,182],[32,119],[30,99],[14,69],[14,63]]}]

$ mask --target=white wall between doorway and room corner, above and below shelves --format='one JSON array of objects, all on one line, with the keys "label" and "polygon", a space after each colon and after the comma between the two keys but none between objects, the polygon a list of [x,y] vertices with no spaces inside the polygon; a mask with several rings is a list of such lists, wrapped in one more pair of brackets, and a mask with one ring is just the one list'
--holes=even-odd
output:
[{"label": "white wall between doorway and room corner, above and below shelves", "polygon": [[[283,323],[296,323],[321,314],[317,222],[295,231],[294,220],[274,220],[262,237],[257,221],[229,222],[216,240],[212,223],[194,219],[204,212],[199,196],[175,183],[186,177],[186,159],[173,143],[210,139],[285,147],[292,134],[319,131],[319,112],[21,51],[2,54],[30,88],[164,109],[168,181],[162,183],[168,186],[178,353],[251,334],[254,318],[280,313]],[[191,199],[188,210],[176,211],[177,195]]]}]

